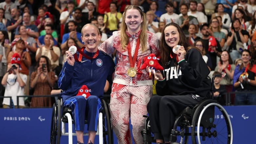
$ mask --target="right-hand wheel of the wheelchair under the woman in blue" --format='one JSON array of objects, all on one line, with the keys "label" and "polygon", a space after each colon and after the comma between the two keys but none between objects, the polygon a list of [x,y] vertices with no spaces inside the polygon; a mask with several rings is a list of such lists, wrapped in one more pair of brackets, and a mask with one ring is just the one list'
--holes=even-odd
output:
[{"label": "right-hand wheel of the wheelchair under the woman in blue", "polygon": [[108,104],[102,99],[103,105],[103,143],[113,144],[113,128]]}]

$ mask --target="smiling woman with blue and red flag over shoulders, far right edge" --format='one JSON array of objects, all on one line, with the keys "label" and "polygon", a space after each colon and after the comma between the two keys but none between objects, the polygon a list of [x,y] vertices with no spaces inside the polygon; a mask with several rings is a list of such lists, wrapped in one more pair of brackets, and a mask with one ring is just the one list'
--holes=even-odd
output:
[{"label": "smiling woman with blue and red flag over shoulders, far right edge", "polygon": [[236,94],[235,105],[256,105],[256,65],[250,62],[250,51],[244,50],[241,55],[242,63],[235,68],[233,86],[238,92],[245,93]]}]

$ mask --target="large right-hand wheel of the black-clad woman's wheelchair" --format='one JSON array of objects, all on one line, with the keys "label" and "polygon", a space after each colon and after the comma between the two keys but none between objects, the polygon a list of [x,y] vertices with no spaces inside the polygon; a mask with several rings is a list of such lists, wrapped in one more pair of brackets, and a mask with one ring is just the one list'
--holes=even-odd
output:
[{"label": "large right-hand wheel of the black-clad woman's wheelchair", "polygon": [[206,100],[195,110],[192,118],[193,144],[232,144],[233,132],[229,116],[215,100]]}]

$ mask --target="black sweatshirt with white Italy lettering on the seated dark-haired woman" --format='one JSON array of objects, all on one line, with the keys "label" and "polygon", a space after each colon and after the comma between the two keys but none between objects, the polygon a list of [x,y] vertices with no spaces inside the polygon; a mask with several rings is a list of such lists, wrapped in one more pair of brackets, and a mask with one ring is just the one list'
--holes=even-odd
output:
[{"label": "black sweatshirt with white Italy lettering on the seated dark-haired woman", "polygon": [[[208,78],[210,73],[202,54],[195,48],[188,50],[185,60],[179,64],[176,54],[172,53],[161,71],[165,80],[158,81],[156,91],[158,95],[187,95],[197,94],[202,97],[209,97],[211,90],[211,80]],[[178,66],[175,66],[178,64]]]}]

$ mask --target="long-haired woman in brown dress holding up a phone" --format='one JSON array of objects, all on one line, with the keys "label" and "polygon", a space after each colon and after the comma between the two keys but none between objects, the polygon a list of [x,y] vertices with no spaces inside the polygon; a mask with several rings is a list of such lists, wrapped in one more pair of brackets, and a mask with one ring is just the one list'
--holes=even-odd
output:
[{"label": "long-haired woman in brown dress holding up a phone", "polygon": [[[32,72],[30,86],[34,88],[33,95],[50,95],[55,82],[55,73],[51,70],[50,60],[42,55],[36,63],[36,71]],[[51,97],[32,97],[30,107],[51,107]]]}]

